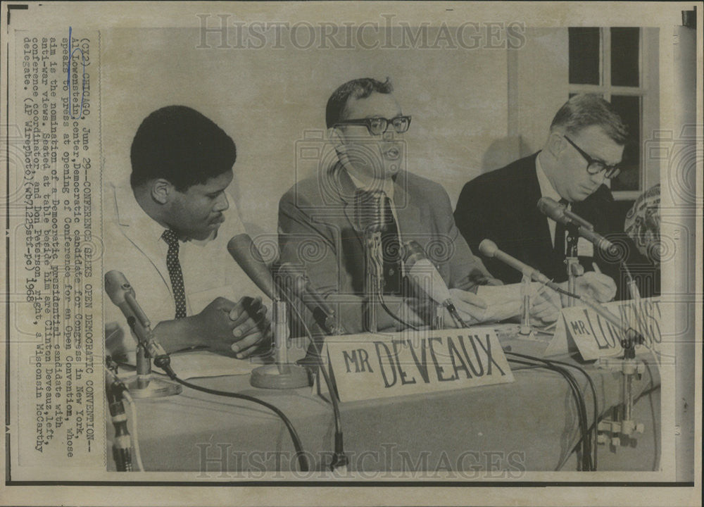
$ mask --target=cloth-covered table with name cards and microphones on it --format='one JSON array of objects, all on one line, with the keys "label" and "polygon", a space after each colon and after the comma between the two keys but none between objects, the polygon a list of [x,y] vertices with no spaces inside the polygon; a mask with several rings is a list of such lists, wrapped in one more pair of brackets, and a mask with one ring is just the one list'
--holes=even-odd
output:
[{"label": "cloth-covered table with name cards and microphones on it", "polygon": [[[501,332],[500,338],[504,348],[529,355],[538,356],[546,346]],[[577,357],[555,359],[580,364]],[[580,365],[593,379],[601,417],[620,401],[620,374],[598,369],[593,363]],[[360,472],[362,478],[382,479],[400,477],[402,472],[433,477],[434,472],[448,470],[458,479],[471,478],[479,470],[515,479],[525,470],[559,470],[580,437],[570,388],[560,375],[548,370],[513,364],[512,369],[515,382],[511,384],[341,403],[350,470]],[[584,392],[591,424],[591,391],[584,375],[572,371]],[[313,395],[312,389],[256,389],[249,385],[249,375],[191,382],[258,396],[274,404],[296,427],[313,468],[326,469],[334,444],[334,418],[329,403]],[[648,366],[634,382],[634,390],[639,396],[659,385],[658,372]],[[659,424],[659,403],[655,408]],[[203,478],[223,474],[256,478],[263,477],[265,470],[296,469],[283,423],[254,403],[184,387],[179,396],[137,400],[137,411],[145,470],[196,471]],[[572,458],[568,470],[575,470],[574,463]],[[652,460],[648,465],[639,459],[625,466],[638,470],[652,466]]]}]

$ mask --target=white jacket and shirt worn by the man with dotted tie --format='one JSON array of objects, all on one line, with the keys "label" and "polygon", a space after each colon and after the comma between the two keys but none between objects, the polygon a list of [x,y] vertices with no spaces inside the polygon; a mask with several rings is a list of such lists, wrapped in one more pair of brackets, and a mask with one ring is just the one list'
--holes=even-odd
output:
[{"label": "white jacket and shirt worn by the man with dotted tie", "polygon": [[[166,265],[168,245],[164,227],[147,215],[130,187],[106,189],[103,270],[118,270],[134,288],[152,327],[175,318],[175,299]],[[230,208],[217,234],[203,241],[179,244],[187,316],[196,315],[218,296],[239,301],[241,296],[263,296],[227,252],[230,238],[245,232],[230,196]],[[263,299],[267,303],[268,299]],[[105,323],[125,325],[118,308],[105,301]],[[129,335],[129,333],[127,333]]]}]

